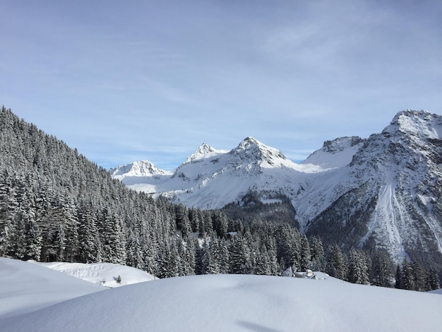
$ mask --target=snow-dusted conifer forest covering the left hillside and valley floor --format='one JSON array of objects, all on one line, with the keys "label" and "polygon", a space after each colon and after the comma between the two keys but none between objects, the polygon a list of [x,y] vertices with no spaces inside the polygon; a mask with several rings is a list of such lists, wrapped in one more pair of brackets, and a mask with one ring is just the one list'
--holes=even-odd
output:
[{"label": "snow-dusted conifer forest covering the left hillside and valley floor", "polygon": [[[232,208],[229,215],[235,215]],[[0,256],[120,263],[160,278],[281,275],[291,266],[352,283],[439,287],[434,269],[396,265],[382,249],[324,248],[321,237],[308,238],[296,224],[274,219],[233,219],[224,211],[154,200],[10,109],[0,110]]]}]

